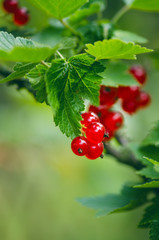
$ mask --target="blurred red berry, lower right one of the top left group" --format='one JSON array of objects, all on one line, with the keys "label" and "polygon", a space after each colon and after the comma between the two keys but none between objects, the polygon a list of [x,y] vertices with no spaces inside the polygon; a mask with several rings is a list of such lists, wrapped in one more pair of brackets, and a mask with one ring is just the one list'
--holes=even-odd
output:
[{"label": "blurred red berry, lower right one of the top left group", "polygon": [[14,23],[18,26],[23,26],[29,21],[29,14],[26,8],[20,8],[14,13]]}]

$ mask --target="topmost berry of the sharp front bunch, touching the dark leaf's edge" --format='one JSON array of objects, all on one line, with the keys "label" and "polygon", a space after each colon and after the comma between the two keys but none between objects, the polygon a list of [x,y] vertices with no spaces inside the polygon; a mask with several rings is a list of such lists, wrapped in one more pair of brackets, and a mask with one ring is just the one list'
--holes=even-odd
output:
[{"label": "topmost berry of the sharp front bunch, touching the dark leaf's edge", "polygon": [[81,124],[86,128],[90,125],[90,123],[100,122],[99,117],[94,112],[82,113],[81,116]]}]

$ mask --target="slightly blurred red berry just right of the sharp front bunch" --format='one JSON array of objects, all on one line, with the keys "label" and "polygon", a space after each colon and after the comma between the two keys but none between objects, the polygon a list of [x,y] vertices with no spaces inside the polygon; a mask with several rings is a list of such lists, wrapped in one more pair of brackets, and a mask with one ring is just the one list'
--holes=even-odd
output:
[{"label": "slightly blurred red berry just right of the sharp front bunch", "polygon": [[103,120],[103,125],[109,131],[115,131],[123,125],[123,116],[120,112],[110,112]]}]

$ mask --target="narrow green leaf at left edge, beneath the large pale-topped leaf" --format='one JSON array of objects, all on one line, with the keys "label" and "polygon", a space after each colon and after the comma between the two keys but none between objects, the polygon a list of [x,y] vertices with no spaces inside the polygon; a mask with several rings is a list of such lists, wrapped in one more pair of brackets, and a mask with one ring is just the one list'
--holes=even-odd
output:
[{"label": "narrow green leaf at left edge, beneath the large pale-topped leaf", "polygon": [[0,80],[0,83],[9,82],[14,79],[22,78],[35,66],[36,63],[16,63],[16,65],[13,68],[13,72],[8,77]]}]

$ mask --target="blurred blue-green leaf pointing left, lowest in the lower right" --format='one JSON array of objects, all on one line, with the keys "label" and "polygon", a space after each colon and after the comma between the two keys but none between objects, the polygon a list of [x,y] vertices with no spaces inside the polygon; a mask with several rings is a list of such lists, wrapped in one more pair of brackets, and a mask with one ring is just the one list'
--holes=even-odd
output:
[{"label": "blurred blue-green leaf pointing left, lowest in the lower right", "polygon": [[[136,191],[137,190],[137,191]],[[79,198],[82,205],[97,210],[97,216],[115,212],[124,212],[142,205],[146,201],[145,190],[124,186],[121,194],[109,194],[101,197]]]}]

